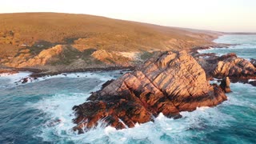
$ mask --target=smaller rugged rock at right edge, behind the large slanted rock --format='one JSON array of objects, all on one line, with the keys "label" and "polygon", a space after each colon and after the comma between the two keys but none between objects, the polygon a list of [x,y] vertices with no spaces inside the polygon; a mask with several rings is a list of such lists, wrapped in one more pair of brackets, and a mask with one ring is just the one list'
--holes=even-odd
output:
[{"label": "smaller rugged rock at right edge, behind the large slanted rock", "polygon": [[221,57],[210,55],[208,58],[196,59],[206,70],[209,78],[229,77],[232,80],[256,78],[254,61],[250,62],[244,58],[238,58],[234,53],[225,54]]}]

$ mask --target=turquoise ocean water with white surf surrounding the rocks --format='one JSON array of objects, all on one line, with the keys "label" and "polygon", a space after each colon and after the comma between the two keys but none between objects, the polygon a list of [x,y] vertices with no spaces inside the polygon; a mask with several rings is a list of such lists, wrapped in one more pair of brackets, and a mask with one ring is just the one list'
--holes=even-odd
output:
[{"label": "turquoise ocean water with white surf surrounding the rocks", "polygon": [[[200,53],[235,52],[256,58],[256,35],[225,35],[215,42],[237,44]],[[86,134],[72,130],[74,105],[82,104],[120,70],[58,74],[21,84],[30,72],[0,77],[0,143],[256,143],[256,87],[231,83],[226,102],[182,112],[182,118],[159,114],[154,122],[115,130],[98,126]],[[15,83],[18,82],[18,83]]]}]

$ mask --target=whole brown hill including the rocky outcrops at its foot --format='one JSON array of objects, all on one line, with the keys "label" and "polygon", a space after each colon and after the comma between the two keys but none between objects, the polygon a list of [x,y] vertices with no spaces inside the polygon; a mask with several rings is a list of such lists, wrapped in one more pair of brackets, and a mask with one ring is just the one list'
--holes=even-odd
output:
[{"label": "whole brown hill including the rocky outcrops at its foot", "polygon": [[86,14],[0,14],[0,64],[57,71],[134,66],[154,51],[212,45],[220,34]]}]

